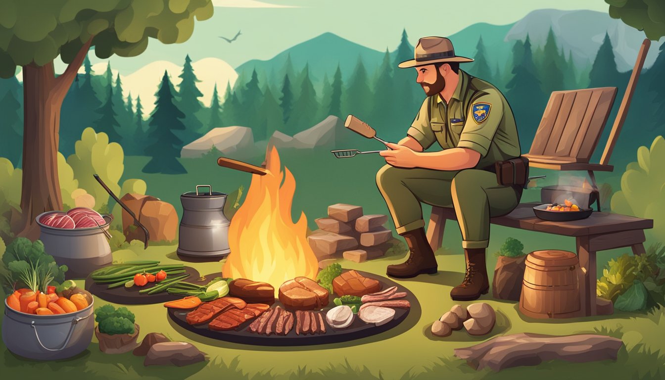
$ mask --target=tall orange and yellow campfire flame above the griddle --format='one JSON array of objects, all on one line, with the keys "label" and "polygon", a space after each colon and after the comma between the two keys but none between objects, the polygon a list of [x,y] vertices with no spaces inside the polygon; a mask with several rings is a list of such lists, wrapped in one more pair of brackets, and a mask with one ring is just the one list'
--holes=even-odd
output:
[{"label": "tall orange and yellow campfire flame above the griddle", "polygon": [[[267,174],[253,174],[242,206],[231,219],[229,248],[222,269],[225,278],[246,278],[275,287],[298,276],[315,279],[319,263],[307,243],[307,217],[293,223],[291,204],[295,179],[281,171],[277,149],[269,148]],[[282,184],[283,182],[283,184]]]}]

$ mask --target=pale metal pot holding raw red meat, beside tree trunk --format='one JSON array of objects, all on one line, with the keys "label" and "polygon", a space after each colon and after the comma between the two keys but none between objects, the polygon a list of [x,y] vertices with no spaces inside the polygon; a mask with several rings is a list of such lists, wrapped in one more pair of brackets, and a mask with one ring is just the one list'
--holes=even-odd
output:
[{"label": "pale metal pot holding raw red meat, beside tree trunk", "polygon": [[39,240],[44,243],[44,250],[53,256],[58,265],[66,265],[67,278],[86,278],[90,272],[111,264],[113,256],[108,245],[106,233],[113,217],[104,215],[106,224],[90,228],[53,228],[39,220],[50,214],[45,212],[37,216],[41,229]]}]

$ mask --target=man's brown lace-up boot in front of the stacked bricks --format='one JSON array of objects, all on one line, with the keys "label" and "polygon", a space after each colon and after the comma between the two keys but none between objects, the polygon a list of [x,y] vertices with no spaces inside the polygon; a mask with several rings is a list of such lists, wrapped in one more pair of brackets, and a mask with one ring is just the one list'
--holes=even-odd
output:
[{"label": "man's brown lace-up boot in front of the stacked bricks", "polygon": [[424,228],[401,234],[409,247],[409,258],[402,264],[388,266],[386,274],[395,278],[412,278],[419,274],[435,274],[438,270],[434,251],[427,241]]}]

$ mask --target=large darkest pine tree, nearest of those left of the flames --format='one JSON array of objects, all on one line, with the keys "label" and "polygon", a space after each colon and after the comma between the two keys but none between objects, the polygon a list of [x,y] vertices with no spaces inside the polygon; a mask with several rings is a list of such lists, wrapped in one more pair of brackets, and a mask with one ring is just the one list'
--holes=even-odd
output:
[{"label": "large darkest pine tree, nearest of those left of the flames", "polygon": [[183,119],[185,114],[176,106],[174,94],[171,90],[168,73],[164,71],[162,83],[157,91],[155,109],[150,115],[148,123],[148,134],[154,139],[154,143],[146,147],[146,154],[152,160],[143,168],[144,173],[182,174],[187,170],[180,164],[180,150],[182,140],[174,133],[177,130],[185,130]]}]

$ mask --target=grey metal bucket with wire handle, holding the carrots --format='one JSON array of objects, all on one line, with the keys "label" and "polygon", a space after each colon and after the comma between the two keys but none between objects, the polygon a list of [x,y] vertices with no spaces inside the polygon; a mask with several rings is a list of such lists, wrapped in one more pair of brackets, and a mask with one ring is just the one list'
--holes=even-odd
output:
[{"label": "grey metal bucket with wire handle, holding the carrots", "polygon": [[73,313],[34,315],[7,305],[2,340],[7,349],[35,360],[66,359],[88,348],[94,332],[92,305]]}]

